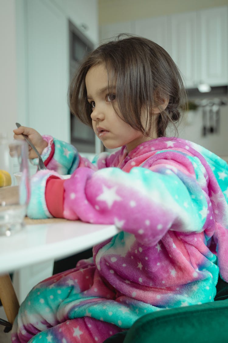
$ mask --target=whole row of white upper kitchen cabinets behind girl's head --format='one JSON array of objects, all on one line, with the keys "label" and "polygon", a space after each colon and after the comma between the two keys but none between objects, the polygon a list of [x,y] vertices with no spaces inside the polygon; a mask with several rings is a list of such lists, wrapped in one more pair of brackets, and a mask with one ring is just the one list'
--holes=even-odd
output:
[{"label": "whole row of white upper kitchen cabinets behind girl's head", "polygon": [[[105,31],[125,28],[161,45],[173,58],[187,88],[199,83],[228,83],[228,7],[171,14],[105,25]],[[100,38],[104,38],[104,27]],[[106,37],[105,37],[106,38]]]}]

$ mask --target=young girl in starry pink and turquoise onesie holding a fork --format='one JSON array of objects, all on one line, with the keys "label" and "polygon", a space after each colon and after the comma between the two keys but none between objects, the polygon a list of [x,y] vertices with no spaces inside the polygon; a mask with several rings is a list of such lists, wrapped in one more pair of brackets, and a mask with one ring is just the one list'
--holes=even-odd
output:
[{"label": "young girl in starry pink and turquoise onesie holding a fork", "polygon": [[67,143],[14,130],[16,139],[28,134],[48,167],[31,179],[31,218],[115,224],[120,232],[95,246],[92,259],[32,289],[13,342],[103,342],[146,313],[213,301],[219,273],[228,281],[227,164],[165,137],[183,94],[163,48],[117,39],[85,59],[69,103],[107,148],[121,149],[90,163]]}]

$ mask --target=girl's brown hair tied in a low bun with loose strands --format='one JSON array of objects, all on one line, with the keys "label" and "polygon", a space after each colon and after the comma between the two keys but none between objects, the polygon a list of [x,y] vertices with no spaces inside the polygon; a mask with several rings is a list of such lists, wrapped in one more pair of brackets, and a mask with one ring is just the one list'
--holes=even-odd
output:
[{"label": "girl's brown hair tied in a low bun with loose strands", "polygon": [[[137,36],[123,38],[119,35],[86,56],[69,87],[68,101],[72,114],[92,127],[92,109],[87,101],[85,76],[91,67],[100,63],[106,65],[109,89],[116,87],[116,102],[120,111],[117,114],[126,123],[149,135],[153,125],[150,109],[159,108],[158,137],[165,135],[169,122],[176,128],[175,122],[180,119],[179,109],[186,102],[179,70],[161,46]],[[165,110],[160,107],[163,99],[169,99]],[[115,109],[114,103],[112,105]],[[143,107],[147,108],[145,127],[141,116]]]}]

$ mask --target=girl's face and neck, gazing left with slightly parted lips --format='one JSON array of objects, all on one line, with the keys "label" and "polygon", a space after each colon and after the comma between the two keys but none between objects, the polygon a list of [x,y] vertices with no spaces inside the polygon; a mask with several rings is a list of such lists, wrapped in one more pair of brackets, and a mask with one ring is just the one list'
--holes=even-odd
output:
[{"label": "girl's face and neck, gazing left with slightly parted lips", "polygon": [[114,149],[126,144],[128,151],[131,151],[140,143],[151,140],[151,137],[133,129],[116,114],[111,102],[116,100],[116,90],[108,93],[108,75],[104,64],[89,69],[85,85],[88,102],[92,107],[93,130],[106,148]]}]

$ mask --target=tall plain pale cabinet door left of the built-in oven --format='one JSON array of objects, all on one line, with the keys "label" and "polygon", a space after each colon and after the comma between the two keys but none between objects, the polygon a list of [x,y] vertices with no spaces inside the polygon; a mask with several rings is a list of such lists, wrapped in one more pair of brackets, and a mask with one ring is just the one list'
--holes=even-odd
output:
[{"label": "tall plain pale cabinet door left of the built-in oven", "polygon": [[26,4],[28,125],[69,142],[68,20],[51,1]]}]

